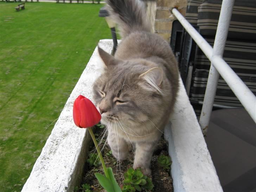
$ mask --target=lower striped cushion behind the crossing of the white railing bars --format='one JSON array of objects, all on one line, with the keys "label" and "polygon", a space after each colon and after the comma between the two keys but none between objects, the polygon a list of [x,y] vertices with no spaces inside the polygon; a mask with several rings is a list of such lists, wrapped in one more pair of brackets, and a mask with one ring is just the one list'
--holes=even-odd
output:
[{"label": "lower striped cushion behind the crossing of the white railing bars", "polygon": [[[213,45],[213,38],[206,38],[206,40]],[[256,41],[244,41],[228,39],[223,57],[248,88],[256,95]],[[194,66],[196,70],[194,71],[190,96],[192,99],[203,101],[210,61],[201,50],[198,51]],[[218,81],[215,104],[242,107],[222,77]]]}]

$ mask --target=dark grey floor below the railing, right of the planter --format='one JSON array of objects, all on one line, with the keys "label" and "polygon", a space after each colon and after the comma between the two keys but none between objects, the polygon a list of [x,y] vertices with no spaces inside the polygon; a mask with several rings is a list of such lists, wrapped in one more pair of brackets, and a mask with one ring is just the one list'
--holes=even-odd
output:
[{"label": "dark grey floor below the railing, right of the planter", "polygon": [[244,109],[213,111],[205,141],[224,192],[256,191],[256,125]]}]

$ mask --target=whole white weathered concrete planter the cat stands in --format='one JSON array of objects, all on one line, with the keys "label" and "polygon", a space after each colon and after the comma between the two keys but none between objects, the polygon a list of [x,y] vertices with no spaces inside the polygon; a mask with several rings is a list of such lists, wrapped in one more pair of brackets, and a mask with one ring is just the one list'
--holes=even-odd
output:
[{"label": "whole white weathered concrete planter the cat stands in", "polygon": [[[101,40],[99,45],[109,53],[113,46],[112,41],[108,39]],[[22,192],[73,191],[81,181],[90,135],[87,129],[79,129],[73,123],[73,102],[78,95],[92,99],[92,84],[100,76],[102,68],[102,61],[95,49],[34,164]],[[169,154],[173,161],[171,173],[174,191],[222,191],[196,115],[182,83],[180,87],[175,113],[165,129],[165,138],[169,142]]]}]

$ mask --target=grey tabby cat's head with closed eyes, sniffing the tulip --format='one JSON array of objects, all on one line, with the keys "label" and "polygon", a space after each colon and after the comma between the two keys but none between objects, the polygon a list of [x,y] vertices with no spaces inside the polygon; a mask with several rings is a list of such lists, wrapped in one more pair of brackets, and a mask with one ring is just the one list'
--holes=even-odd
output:
[{"label": "grey tabby cat's head with closed eyes, sniffing the tulip", "polygon": [[162,113],[163,71],[145,59],[118,60],[98,47],[105,70],[95,81],[94,101],[102,123],[130,127]]}]

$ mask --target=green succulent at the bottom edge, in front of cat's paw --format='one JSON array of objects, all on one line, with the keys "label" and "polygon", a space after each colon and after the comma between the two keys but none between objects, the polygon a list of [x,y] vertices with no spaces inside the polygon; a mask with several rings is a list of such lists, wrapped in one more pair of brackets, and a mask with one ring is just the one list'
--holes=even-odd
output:
[{"label": "green succulent at the bottom edge, in front of cat's paw", "polygon": [[152,181],[150,178],[148,178],[146,175],[143,175],[141,170],[129,168],[127,172],[124,173],[124,181],[125,184],[123,186],[123,191],[148,191],[152,190],[154,185],[152,184]]}]

